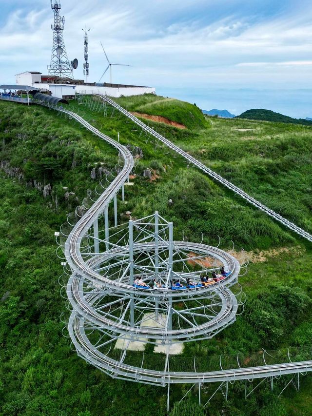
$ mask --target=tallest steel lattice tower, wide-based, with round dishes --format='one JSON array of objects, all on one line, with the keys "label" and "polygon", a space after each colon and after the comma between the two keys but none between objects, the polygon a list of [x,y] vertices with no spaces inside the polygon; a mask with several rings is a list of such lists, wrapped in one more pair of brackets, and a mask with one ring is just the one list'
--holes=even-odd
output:
[{"label": "tallest steel lattice tower, wide-based, with round dishes", "polygon": [[60,17],[60,7],[60,0],[51,0],[51,9],[54,12],[54,25],[51,25],[53,30],[53,47],[51,64],[47,66],[47,69],[49,70],[49,75],[73,79],[73,62],[69,61],[65,49],[63,39],[65,18]]}]

